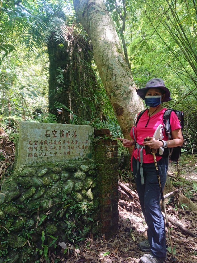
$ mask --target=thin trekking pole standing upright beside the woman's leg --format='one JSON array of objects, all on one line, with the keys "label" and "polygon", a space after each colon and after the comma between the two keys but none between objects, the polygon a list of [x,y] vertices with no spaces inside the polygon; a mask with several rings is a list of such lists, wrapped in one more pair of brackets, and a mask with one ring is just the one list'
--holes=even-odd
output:
[{"label": "thin trekking pole standing upright beside the woman's leg", "polygon": [[176,263],[177,259],[174,257],[174,252],[173,252],[173,248],[172,248],[172,240],[171,240],[171,236],[170,236],[168,217],[167,217],[167,213],[166,213],[166,209],[165,209],[165,203],[164,203],[164,197],[163,197],[163,191],[162,191],[162,184],[161,184],[161,180],[160,180],[160,176],[159,176],[159,169],[158,169],[158,165],[157,165],[157,159],[156,159],[155,153],[152,152],[152,154],[153,154],[153,157],[154,157],[155,168],[157,170],[157,178],[158,178],[158,183],[159,183],[159,189],[160,189],[160,193],[161,193],[163,210],[164,210],[164,214],[165,214],[165,221],[166,221],[166,226],[167,226],[167,229],[168,229],[168,236],[169,236],[170,247],[171,247],[171,251],[172,251],[172,257],[171,257],[170,261]]}]

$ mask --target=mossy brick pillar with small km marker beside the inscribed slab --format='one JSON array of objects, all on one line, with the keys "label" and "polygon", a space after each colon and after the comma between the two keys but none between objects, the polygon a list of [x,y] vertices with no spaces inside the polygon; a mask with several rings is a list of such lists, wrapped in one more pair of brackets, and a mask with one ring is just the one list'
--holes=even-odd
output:
[{"label": "mossy brick pillar with small km marker beside the inscribed slab", "polygon": [[[106,130],[105,130],[106,131]],[[107,131],[106,136],[109,131]],[[96,141],[95,159],[98,163],[98,191],[100,205],[100,232],[106,239],[118,234],[118,146],[117,141],[102,139]]]}]

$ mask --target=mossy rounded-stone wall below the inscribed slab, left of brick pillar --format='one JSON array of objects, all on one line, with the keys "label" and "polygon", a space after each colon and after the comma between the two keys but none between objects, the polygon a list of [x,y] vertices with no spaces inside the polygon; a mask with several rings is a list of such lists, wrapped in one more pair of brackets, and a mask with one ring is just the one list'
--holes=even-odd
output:
[{"label": "mossy rounded-stone wall below the inscribed slab, left of brick pillar", "polygon": [[[0,263],[9,259],[35,263],[43,249],[43,235],[46,244],[53,240],[57,244],[83,240],[90,232],[98,234],[94,160],[22,166],[1,183]],[[58,253],[61,247],[52,249]]]}]

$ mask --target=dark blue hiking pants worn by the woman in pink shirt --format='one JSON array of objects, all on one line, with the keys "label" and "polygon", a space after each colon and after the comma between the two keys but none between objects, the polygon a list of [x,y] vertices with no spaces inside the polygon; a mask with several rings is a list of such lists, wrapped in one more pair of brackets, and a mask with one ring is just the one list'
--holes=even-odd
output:
[{"label": "dark blue hiking pants worn by the woman in pink shirt", "polygon": [[[157,170],[154,163],[143,163],[144,185],[141,184],[140,169],[137,170],[137,160],[133,158],[133,173],[136,180],[137,192],[142,212],[148,225],[148,240],[151,253],[155,257],[166,256],[165,222],[161,214]],[[167,178],[168,158],[157,162],[159,176],[164,189]]]}]

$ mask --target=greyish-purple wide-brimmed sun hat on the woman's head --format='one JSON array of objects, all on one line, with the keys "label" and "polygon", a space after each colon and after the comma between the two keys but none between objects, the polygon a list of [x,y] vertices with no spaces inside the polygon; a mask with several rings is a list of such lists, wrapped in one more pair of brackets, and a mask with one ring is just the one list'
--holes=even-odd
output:
[{"label": "greyish-purple wide-brimmed sun hat on the woman's head", "polygon": [[164,91],[165,98],[162,102],[167,102],[167,101],[172,99],[172,98],[170,98],[170,91],[168,88],[165,87],[163,79],[155,79],[155,78],[149,80],[146,83],[145,88],[137,90],[138,96],[144,100],[145,94],[147,93],[148,89],[151,89],[151,88],[160,88]]}]

